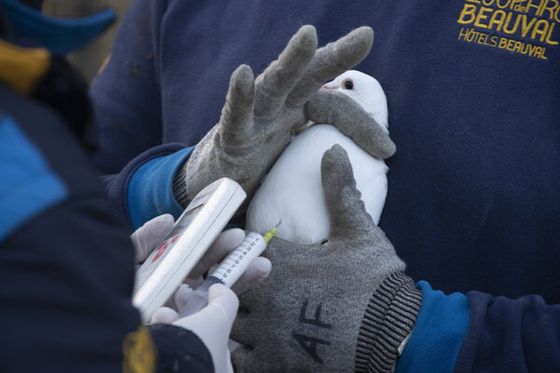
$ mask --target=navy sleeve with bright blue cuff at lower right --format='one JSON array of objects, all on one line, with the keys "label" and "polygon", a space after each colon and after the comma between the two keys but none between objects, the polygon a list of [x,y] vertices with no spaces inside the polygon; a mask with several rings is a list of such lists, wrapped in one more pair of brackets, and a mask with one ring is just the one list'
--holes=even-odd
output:
[{"label": "navy sleeve with bright blue cuff at lower right", "polygon": [[397,372],[560,371],[560,305],[418,285],[423,304]]}]

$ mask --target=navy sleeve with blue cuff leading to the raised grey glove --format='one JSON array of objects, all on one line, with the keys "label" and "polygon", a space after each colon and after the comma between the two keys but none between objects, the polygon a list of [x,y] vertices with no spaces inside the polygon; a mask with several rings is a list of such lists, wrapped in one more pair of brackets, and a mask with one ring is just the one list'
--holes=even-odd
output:
[{"label": "navy sleeve with blue cuff leading to the raised grey glove", "polygon": [[173,177],[192,150],[164,139],[160,29],[168,6],[132,2],[90,89],[98,137],[94,160],[116,212],[133,228],[162,213],[178,217]]}]

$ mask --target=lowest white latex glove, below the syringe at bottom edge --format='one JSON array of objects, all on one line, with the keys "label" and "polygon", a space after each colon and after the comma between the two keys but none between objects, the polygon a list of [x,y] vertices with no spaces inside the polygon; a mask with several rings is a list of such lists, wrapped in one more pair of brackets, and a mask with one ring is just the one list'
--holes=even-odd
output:
[{"label": "lowest white latex glove, below the syringe at bottom edge", "polygon": [[[228,349],[228,337],[239,300],[224,285],[212,285],[208,292],[208,305],[191,316],[181,317],[173,323],[196,334],[212,356],[215,372],[233,372]],[[179,310],[179,315],[181,311]]]}]

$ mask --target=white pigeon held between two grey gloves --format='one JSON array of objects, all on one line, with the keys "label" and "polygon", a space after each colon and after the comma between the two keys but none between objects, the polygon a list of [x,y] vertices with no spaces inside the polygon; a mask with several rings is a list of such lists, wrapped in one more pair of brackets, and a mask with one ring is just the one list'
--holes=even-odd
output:
[{"label": "white pigeon held between two grey gloves", "polygon": [[[323,89],[336,89],[359,103],[388,132],[387,99],[379,82],[350,70]],[[274,163],[247,209],[247,229],[264,234],[277,227],[287,241],[311,244],[327,239],[329,215],[321,183],[321,158],[334,144],[346,152],[366,211],[379,222],[387,195],[385,163],[330,124],[314,124],[292,139]]]}]

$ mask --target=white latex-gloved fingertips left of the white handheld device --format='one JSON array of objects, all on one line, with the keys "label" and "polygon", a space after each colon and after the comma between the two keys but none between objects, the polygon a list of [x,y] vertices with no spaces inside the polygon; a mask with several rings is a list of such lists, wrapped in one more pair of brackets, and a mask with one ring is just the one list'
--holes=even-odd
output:
[{"label": "white latex-gloved fingertips left of the white handheld device", "polygon": [[173,229],[175,219],[170,214],[156,216],[132,233],[130,239],[136,249],[136,264],[141,264],[163,242]]}]

